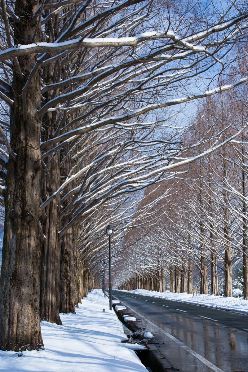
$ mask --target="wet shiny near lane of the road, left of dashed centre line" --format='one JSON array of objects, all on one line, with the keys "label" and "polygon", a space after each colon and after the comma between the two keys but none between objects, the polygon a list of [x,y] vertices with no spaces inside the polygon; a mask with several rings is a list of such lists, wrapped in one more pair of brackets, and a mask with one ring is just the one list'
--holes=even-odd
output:
[{"label": "wet shiny near lane of the road, left of dashed centre line", "polygon": [[[162,307],[159,303],[144,302],[144,299],[132,298],[130,295],[118,293],[118,296],[165,333],[191,349],[192,353],[158,328],[152,327],[151,323],[146,323],[147,330],[156,337],[160,352],[173,367],[182,372],[216,372],[219,369],[224,372],[248,372],[248,331],[230,328],[218,321],[201,317],[202,314],[191,315],[168,306]],[[194,353],[217,368],[197,359]]]}]

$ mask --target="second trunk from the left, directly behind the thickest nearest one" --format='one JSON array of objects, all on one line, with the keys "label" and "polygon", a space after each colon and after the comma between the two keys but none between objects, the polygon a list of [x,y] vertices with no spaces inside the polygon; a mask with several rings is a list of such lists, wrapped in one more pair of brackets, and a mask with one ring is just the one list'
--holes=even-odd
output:
[{"label": "second trunk from the left, directly behind the thickest nearest one", "polygon": [[[45,15],[49,15],[49,10],[45,10]],[[56,20],[57,17],[57,20]],[[49,36],[51,42],[57,38],[56,24],[58,15],[55,17],[54,25],[51,22],[46,23],[45,33]],[[46,64],[42,69],[42,81],[49,85],[55,83],[58,78],[56,64]],[[59,69],[58,69],[59,71]],[[49,102],[51,98],[58,96],[59,90],[43,93],[44,103]],[[58,126],[58,113],[48,112],[42,117],[42,141],[48,141],[54,135]],[[48,149],[47,149],[48,150]],[[56,151],[44,159],[44,167],[41,180],[42,201],[57,191],[60,186],[60,152]],[[61,241],[58,240],[58,216],[60,213],[60,195],[57,195],[45,210],[42,210],[42,227],[45,240],[42,244],[41,255],[41,319],[51,323],[61,324],[59,318],[59,265]]]}]

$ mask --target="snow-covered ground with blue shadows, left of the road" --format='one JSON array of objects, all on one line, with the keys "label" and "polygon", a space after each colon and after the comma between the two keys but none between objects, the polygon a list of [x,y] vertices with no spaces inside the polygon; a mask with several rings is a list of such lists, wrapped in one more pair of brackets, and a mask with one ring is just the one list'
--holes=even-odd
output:
[{"label": "snow-covered ground with blue shadows, left of the road", "polygon": [[127,337],[102,291],[92,291],[82,302],[76,314],[61,314],[63,325],[41,323],[44,351],[0,350],[0,371],[147,372],[128,348],[132,345],[121,343]]}]

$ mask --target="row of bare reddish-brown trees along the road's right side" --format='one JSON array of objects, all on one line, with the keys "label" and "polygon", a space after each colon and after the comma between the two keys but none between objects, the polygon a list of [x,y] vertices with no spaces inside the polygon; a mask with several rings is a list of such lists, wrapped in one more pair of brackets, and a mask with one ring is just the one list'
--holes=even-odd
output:
[{"label": "row of bare reddish-brown trees along the road's right side", "polygon": [[[198,105],[195,124],[184,134],[184,143],[189,147],[191,143],[199,145],[187,151],[201,153],[209,148],[209,143],[204,143],[209,138],[210,147],[215,145],[213,133],[229,137],[244,128],[248,113],[246,97],[247,87],[243,86],[235,94],[220,94]],[[160,291],[165,278],[169,277],[171,292],[192,293],[193,275],[197,277],[199,273],[200,293],[209,293],[210,275],[210,292],[218,295],[219,274],[224,278],[224,295],[232,296],[232,273],[241,264],[242,292],[248,299],[247,146],[245,127],[235,140],[196,160],[188,169],[182,168],[181,176],[166,186],[161,184],[161,188],[170,186],[174,194],[168,197],[165,210],[157,216],[155,227],[142,237],[142,250],[147,251],[142,262],[134,257],[131,260],[136,275],[132,276],[131,269],[131,278],[126,275],[126,283],[120,284],[120,288],[144,285],[145,289]],[[127,237],[126,244],[138,235],[136,231]],[[136,257],[140,249],[139,242],[129,248]],[[150,273],[151,278],[149,275],[146,278],[146,273]],[[148,282],[143,283],[145,278]],[[118,281],[122,283],[122,275]]]}]

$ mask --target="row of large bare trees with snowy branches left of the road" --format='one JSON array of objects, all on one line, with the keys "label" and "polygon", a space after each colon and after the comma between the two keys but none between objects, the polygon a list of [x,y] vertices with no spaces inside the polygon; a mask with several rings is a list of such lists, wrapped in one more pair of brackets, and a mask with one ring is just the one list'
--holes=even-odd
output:
[{"label": "row of large bare trees with snowy branches left of the road", "polygon": [[248,79],[233,52],[248,10],[217,5],[1,1],[1,349],[42,349],[40,319],[60,324],[99,281],[113,216],[121,263],[125,234],[168,194],[141,203],[144,189],[242,132],[190,154],[176,115]]}]

